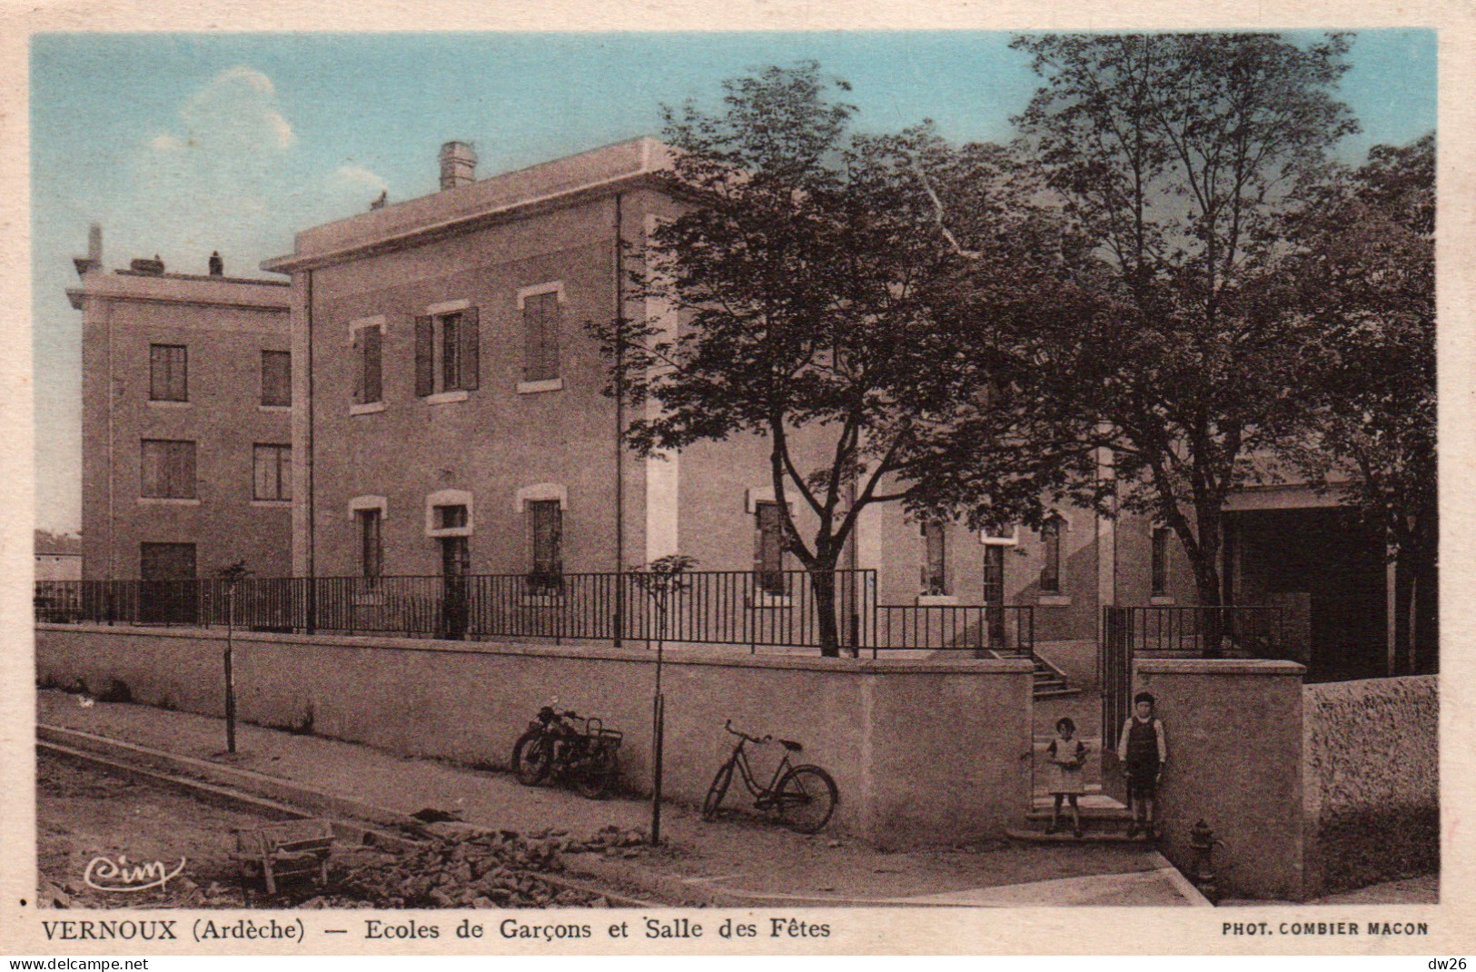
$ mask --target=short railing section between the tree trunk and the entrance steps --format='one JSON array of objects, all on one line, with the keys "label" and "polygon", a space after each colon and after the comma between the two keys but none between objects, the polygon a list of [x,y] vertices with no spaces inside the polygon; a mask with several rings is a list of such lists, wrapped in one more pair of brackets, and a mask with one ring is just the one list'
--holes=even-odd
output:
[{"label": "short railing section between the tree trunk and the entrance steps", "polygon": [[1029,604],[877,606],[872,657],[878,650],[1035,653],[1035,607]]}]

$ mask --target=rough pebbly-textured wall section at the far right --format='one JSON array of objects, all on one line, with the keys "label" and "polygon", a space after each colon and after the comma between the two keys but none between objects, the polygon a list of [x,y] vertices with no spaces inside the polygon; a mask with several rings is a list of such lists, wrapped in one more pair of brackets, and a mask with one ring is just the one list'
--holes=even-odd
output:
[{"label": "rough pebbly-textured wall section at the far right", "polygon": [[1441,864],[1435,675],[1303,688],[1309,894]]}]

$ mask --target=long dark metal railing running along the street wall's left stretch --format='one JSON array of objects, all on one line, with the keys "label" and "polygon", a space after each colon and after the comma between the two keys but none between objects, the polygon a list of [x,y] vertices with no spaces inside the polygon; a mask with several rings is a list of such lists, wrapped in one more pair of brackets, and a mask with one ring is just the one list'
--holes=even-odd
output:
[{"label": "long dark metal railing running along the street wall's left stretch", "polygon": [[[43,581],[37,622],[224,626],[424,638],[666,640],[818,647],[821,610],[807,572],[692,572],[663,595],[646,575]],[[837,570],[838,644],[872,620],[874,570]]]}]

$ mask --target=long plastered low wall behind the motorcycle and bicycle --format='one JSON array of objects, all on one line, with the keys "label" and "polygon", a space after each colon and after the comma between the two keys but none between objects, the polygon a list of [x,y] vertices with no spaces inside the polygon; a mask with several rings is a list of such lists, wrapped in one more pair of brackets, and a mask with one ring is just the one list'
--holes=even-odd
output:
[{"label": "long plastered low wall behind the motorcycle and bicycle", "polygon": [[[37,625],[43,684],[224,713],[224,632]],[[642,648],[236,634],[244,721],[506,767],[539,706],[626,733],[648,789],[655,654]],[[840,787],[835,826],[877,845],[998,836],[1027,805],[1030,663],[667,654],[664,792],[697,804],[732,749],[723,721],[804,745]],[[768,781],[778,746],[754,750]],[[737,801],[739,793],[729,793]]]}]

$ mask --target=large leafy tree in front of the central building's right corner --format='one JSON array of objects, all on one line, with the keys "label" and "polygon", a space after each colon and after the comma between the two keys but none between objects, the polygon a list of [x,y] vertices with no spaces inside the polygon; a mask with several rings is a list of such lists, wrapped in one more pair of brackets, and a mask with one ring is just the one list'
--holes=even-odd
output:
[{"label": "large leafy tree in front of the central building's right corner", "polygon": [[[982,356],[930,313],[930,284],[967,257],[936,232],[920,173],[980,174],[990,160],[953,154],[925,127],[853,133],[855,109],[827,97],[815,64],[723,89],[722,115],[666,111],[669,191],[685,208],[652,232],[636,279],[680,326],[593,328],[618,372],[610,391],[660,406],[630,422],[639,454],[741,434],[768,442],[785,547],[813,585],[822,651],[835,656],[834,572],[858,516],[880,502],[940,502],[928,458],[984,403]],[[1036,516],[1029,479],[1027,468],[999,470],[989,496],[999,516]],[[815,517],[809,538],[791,496]]]}]

